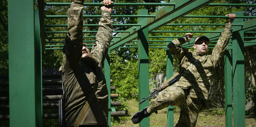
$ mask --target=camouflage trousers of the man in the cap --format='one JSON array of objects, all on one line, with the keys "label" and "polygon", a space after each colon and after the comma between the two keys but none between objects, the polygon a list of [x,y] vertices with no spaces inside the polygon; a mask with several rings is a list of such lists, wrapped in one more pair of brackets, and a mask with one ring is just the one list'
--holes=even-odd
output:
[{"label": "camouflage trousers of the man in the cap", "polygon": [[179,121],[175,127],[195,127],[198,114],[203,107],[200,99],[189,97],[189,90],[176,86],[167,87],[163,94],[151,99],[147,112],[151,114],[157,110],[167,108],[169,105],[176,105],[181,108],[181,111]]}]

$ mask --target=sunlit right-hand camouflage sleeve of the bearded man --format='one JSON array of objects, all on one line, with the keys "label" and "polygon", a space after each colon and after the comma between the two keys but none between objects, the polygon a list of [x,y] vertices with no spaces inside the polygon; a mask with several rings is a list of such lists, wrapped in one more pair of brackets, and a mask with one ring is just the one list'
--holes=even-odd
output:
[{"label": "sunlit right-hand camouflage sleeve of the bearded man", "polygon": [[99,30],[96,36],[95,44],[91,50],[92,56],[102,65],[108,53],[109,45],[112,39],[113,23],[111,12],[103,11],[99,22]]}]

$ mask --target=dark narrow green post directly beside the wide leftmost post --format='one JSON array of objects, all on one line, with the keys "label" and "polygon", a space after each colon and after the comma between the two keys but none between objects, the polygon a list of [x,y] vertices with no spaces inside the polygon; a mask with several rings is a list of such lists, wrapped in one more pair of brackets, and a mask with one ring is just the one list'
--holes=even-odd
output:
[{"label": "dark narrow green post directly beside the wide leftmost post", "polygon": [[40,38],[39,10],[35,9],[35,90],[36,90],[36,126],[43,126],[42,107],[42,45]]}]

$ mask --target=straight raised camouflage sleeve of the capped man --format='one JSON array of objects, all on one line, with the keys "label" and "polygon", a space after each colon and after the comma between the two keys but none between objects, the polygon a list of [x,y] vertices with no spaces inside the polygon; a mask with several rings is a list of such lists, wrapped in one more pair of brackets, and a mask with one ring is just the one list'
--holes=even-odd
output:
[{"label": "straight raised camouflage sleeve of the capped man", "polygon": [[229,37],[230,37],[231,31],[232,31],[231,25],[232,25],[231,23],[226,23],[225,28],[224,28],[223,32],[221,33],[217,44],[212,49],[211,59],[213,61],[214,67],[219,62],[220,58],[224,55],[224,52],[227,49]]}]

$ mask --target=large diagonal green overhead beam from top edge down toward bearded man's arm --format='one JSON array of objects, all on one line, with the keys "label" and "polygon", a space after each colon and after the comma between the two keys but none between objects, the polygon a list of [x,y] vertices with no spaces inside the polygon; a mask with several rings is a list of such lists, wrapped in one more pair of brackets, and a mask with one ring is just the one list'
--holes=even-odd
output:
[{"label": "large diagonal green overhead beam from top edge down toward bearded man's arm", "polygon": [[135,38],[137,38],[137,36],[135,36],[136,33],[143,30],[144,28],[148,27],[149,32],[151,32],[213,1],[215,0],[197,0],[196,2],[195,0],[174,0],[172,1],[172,3],[175,3],[175,7],[162,7],[161,9],[152,14],[156,16],[155,18],[145,18],[138,23],[141,24],[141,27],[133,26],[129,28],[128,31],[130,31],[130,33],[121,34],[121,38],[115,39],[114,43],[110,45],[110,48],[112,50],[134,40]]}]

